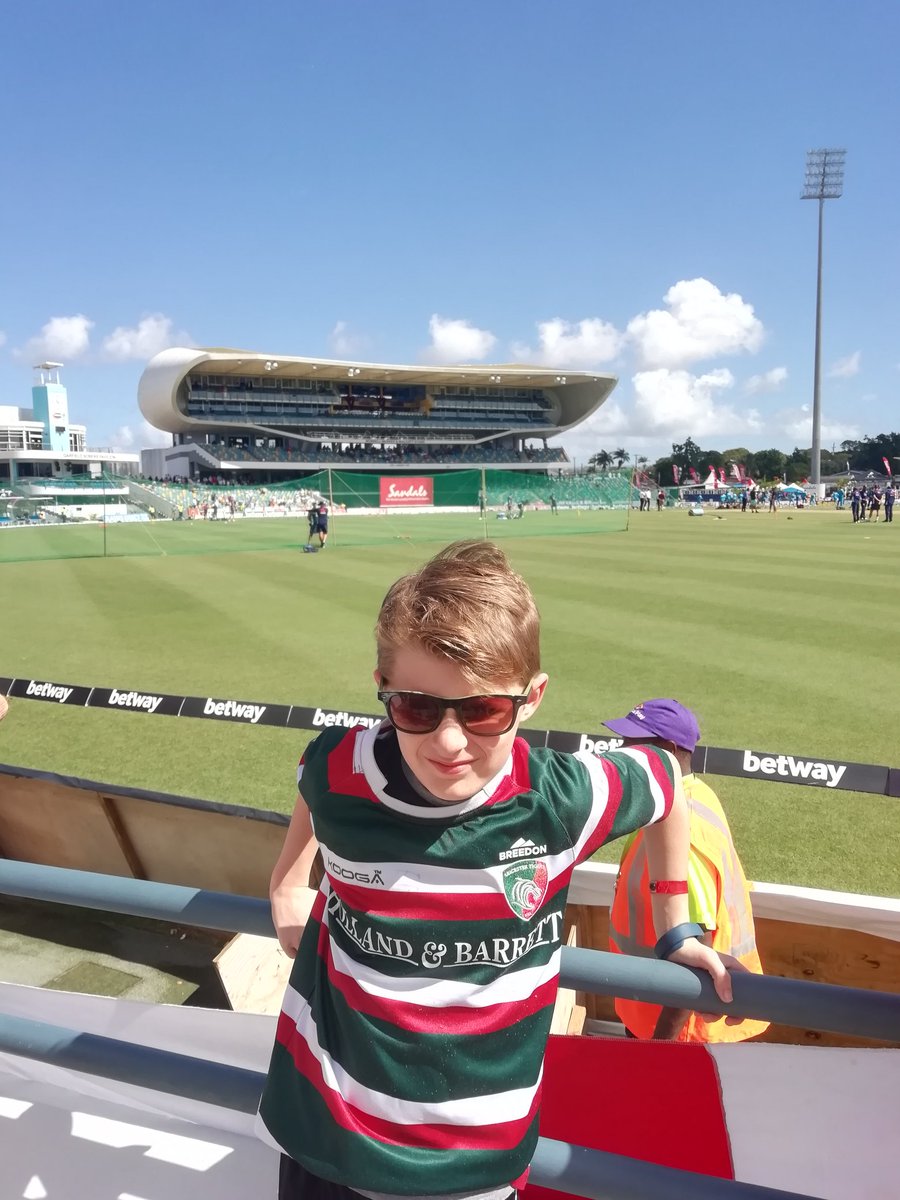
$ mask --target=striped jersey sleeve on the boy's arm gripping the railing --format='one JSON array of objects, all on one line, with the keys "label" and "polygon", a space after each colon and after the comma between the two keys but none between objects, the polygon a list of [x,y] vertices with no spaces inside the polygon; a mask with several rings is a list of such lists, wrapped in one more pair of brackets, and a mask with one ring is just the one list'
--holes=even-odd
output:
[{"label": "striped jersey sleeve on the boy's arm gripping the railing", "polygon": [[682,773],[667,750],[629,746],[604,755],[557,754],[552,763],[554,811],[577,863],[607,841],[661,821],[682,790]]}]

